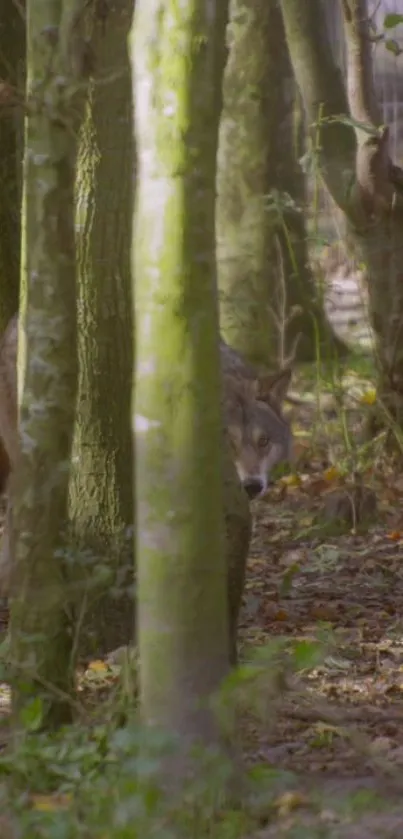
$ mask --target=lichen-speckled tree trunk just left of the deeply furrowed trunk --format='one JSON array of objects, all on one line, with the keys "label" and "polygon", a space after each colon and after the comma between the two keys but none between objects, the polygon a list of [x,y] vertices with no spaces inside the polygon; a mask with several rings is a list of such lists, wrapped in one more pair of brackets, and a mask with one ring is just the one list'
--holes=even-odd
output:
[{"label": "lichen-speckled tree trunk just left of the deeply furrowed trunk", "polygon": [[[58,32],[58,39],[49,33]],[[27,4],[19,334],[19,445],[14,474],[13,710],[43,701],[42,724],[71,718],[74,662],[62,532],[77,383],[74,167],[80,38],[76,3]]]}]

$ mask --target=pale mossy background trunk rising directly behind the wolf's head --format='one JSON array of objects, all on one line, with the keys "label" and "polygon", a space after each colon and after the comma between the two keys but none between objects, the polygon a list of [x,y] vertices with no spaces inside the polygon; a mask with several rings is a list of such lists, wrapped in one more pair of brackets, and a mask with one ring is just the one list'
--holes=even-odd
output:
[{"label": "pale mossy background trunk rising directly behind the wolf's head", "polygon": [[217,170],[217,260],[225,340],[252,363],[276,357],[270,289],[276,270],[266,212],[268,138],[277,92],[269,83],[271,4],[232,0]]}]

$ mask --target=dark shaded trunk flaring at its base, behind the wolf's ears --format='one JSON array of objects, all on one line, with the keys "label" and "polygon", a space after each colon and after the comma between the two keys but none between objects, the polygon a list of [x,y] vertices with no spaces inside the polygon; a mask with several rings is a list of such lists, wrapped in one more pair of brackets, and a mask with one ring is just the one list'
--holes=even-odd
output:
[{"label": "dark shaded trunk flaring at its base, behind the wolf's ears", "polygon": [[277,271],[270,289],[271,305],[280,323],[282,311],[285,318],[284,329],[279,331],[277,352],[280,360],[284,361],[296,346],[299,361],[312,361],[321,356],[330,357],[335,351],[340,354],[346,347],[335,338],[327,324],[310,267],[305,225],[306,179],[300,164],[303,155],[301,134],[305,126],[297,124],[298,110],[301,111],[301,106],[303,109],[303,104],[290,60],[281,9],[278,3],[268,6],[270,72],[278,82],[274,86],[277,101],[273,102],[276,121],[272,123],[268,142],[267,207],[272,212],[281,254],[281,266],[277,258]]}]

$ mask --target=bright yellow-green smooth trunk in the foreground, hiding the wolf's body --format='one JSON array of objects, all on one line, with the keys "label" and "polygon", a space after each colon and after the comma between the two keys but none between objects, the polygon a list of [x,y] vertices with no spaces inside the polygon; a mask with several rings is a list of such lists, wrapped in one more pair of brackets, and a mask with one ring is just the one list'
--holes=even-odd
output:
[{"label": "bright yellow-green smooth trunk in the foreground, hiding the wolf's body", "polygon": [[217,742],[207,703],[229,660],[215,278],[225,6],[137,0],[131,43],[141,709],[185,747]]}]

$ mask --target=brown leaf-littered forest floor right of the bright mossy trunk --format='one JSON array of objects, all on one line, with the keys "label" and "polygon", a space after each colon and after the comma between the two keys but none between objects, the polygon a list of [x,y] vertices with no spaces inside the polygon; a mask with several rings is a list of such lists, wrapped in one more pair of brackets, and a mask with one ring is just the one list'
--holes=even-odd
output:
[{"label": "brown leaf-littered forest floor right of the bright mossy trunk", "polygon": [[[253,503],[240,636],[257,668],[235,701],[267,786],[243,839],[403,839],[403,468],[383,439],[359,442],[365,365],[320,398],[313,379],[294,385],[312,394],[292,408],[296,474]],[[81,684],[108,704],[116,673],[93,662]]]}]

